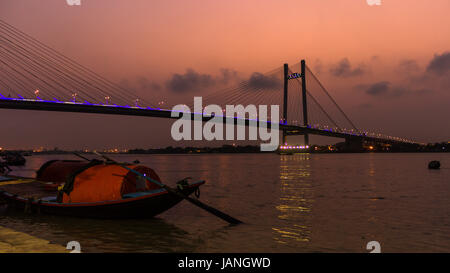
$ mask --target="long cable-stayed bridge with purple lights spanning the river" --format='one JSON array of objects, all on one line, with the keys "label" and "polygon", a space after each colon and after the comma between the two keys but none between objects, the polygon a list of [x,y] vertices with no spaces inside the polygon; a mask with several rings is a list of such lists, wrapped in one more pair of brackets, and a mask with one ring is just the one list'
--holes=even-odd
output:
[{"label": "long cable-stayed bridge with purple lights spanning the river", "polygon": [[[192,101],[158,95],[138,96],[0,20],[0,108],[157,118],[174,118],[171,109],[177,104],[193,109]],[[356,143],[419,144],[357,128],[304,61],[264,74],[254,73],[233,87],[204,95],[203,104],[280,105],[280,120],[265,122],[268,127],[279,125],[283,144],[289,135],[304,135],[306,145],[309,135]],[[204,121],[212,118],[201,112],[185,114],[200,116]],[[234,123],[243,119],[246,125],[259,121],[257,116],[224,114],[223,118]]]}]

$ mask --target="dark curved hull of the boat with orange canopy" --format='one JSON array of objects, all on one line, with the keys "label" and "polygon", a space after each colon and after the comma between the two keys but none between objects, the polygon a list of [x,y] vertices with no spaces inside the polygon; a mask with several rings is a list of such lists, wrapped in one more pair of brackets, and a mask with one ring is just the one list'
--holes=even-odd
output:
[{"label": "dark curved hull of the boat with orange canopy", "polygon": [[[198,190],[203,183],[191,184],[181,192],[185,195],[190,195]],[[9,207],[27,213],[106,219],[152,218],[183,200],[183,198],[163,189],[138,197],[95,203],[64,204],[30,200],[8,192],[0,192],[0,197],[8,203]]]}]

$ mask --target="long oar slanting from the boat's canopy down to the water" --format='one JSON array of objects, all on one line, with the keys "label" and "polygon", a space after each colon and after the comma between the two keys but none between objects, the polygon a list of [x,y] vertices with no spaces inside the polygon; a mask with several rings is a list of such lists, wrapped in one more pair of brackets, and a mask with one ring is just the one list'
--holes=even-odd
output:
[{"label": "long oar slanting from the boat's canopy down to the water", "polygon": [[105,155],[102,155],[102,154],[100,154],[98,152],[95,152],[95,151],[94,151],[94,153],[99,155],[99,156],[101,156],[101,157],[103,157],[107,161],[114,162],[114,163],[118,164],[119,166],[121,166],[122,168],[127,169],[130,172],[132,172],[132,173],[134,173],[134,174],[136,174],[136,175],[138,175],[140,177],[143,177],[143,178],[147,179],[148,181],[150,181],[150,182],[160,186],[161,188],[167,190],[169,193],[177,195],[178,197],[181,197],[183,199],[186,199],[187,201],[191,202],[192,204],[196,205],[197,207],[206,210],[207,212],[209,212],[209,213],[211,213],[211,214],[221,218],[222,220],[224,220],[224,221],[226,221],[226,222],[228,222],[230,224],[240,224],[240,223],[242,223],[242,221],[239,221],[238,219],[233,218],[230,215],[228,215],[228,214],[226,214],[224,212],[221,212],[220,210],[218,210],[216,208],[213,208],[213,207],[211,207],[211,206],[209,206],[209,205],[207,205],[207,204],[205,204],[203,202],[200,202],[198,199],[194,199],[194,198],[191,198],[191,197],[189,197],[187,195],[184,195],[180,191],[178,191],[178,190],[176,190],[174,188],[171,188],[171,187],[169,187],[169,186],[167,186],[167,185],[165,185],[165,184],[163,184],[163,183],[161,183],[159,181],[156,181],[156,180],[154,180],[154,179],[152,179],[152,178],[150,178],[150,177],[148,177],[148,176],[146,176],[146,175],[144,175],[144,174],[142,174],[142,173],[140,173],[140,172],[138,172],[138,171],[136,171],[136,170],[134,170],[132,168],[129,168],[129,167],[125,166],[124,164],[121,164],[121,163],[119,163],[119,162],[117,162],[117,161],[115,161],[115,160],[113,160],[113,159],[111,159],[111,158],[109,158],[109,157],[107,157]]}]

